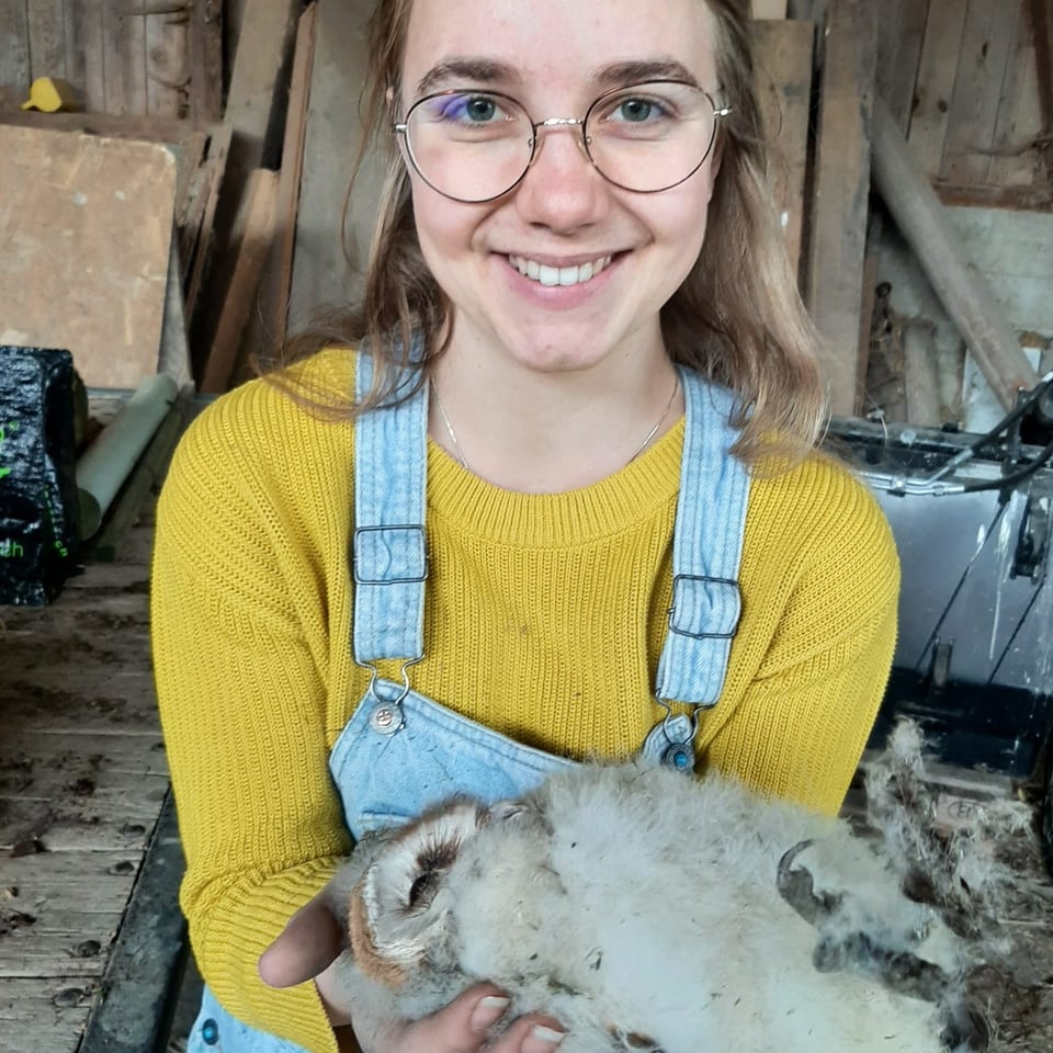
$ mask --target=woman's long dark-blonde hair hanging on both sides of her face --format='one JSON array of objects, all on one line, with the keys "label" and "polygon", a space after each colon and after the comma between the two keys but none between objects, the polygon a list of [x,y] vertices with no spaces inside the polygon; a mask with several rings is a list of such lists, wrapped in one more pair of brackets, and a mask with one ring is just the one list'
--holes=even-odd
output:
[{"label": "woman's long dark-blonde hair hanging on both sides of her face", "polygon": [[[825,420],[819,337],[797,291],[772,202],[769,155],[754,89],[748,2],[707,3],[716,27],[716,73],[732,107],[721,121],[721,165],[702,251],[661,309],[671,359],[734,390],[746,463],[778,453],[796,460],[819,439]],[[386,151],[387,172],[370,250],[364,294],[354,307],[318,319],[292,340],[287,358],[326,344],[367,342],[374,385],[352,414],[388,398],[414,335],[426,363],[445,351],[450,303],[428,270],[414,223],[409,177],[389,133],[412,0],[380,0],[370,22],[370,70],[363,98],[362,154]]]}]

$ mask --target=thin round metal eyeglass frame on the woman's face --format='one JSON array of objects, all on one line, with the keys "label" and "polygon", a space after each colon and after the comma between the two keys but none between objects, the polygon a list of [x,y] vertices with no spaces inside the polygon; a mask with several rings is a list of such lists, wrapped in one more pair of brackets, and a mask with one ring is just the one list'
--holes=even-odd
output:
[{"label": "thin round metal eyeglass frame on the woman's face", "polygon": [[[657,190],[636,190],[633,186],[626,186],[623,183],[613,180],[608,176],[603,169],[600,168],[596,162],[596,158],[592,156],[592,151],[589,149],[589,136],[585,134],[586,125],[589,123],[589,117],[592,116],[592,111],[596,110],[601,102],[605,99],[610,99],[611,95],[616,95],[624,91],[631,91],[633,88],[642,87],[644,84],[679,84],[682,88],[692,88],[695,91],[701,92],[710,105],[713,106],[713,132],[710,135],[710,141],[706,144],[705,149],[702,151],[702,157],[699,158],[698,165],[688,172],[687,176],[681,177],[676,180],[676,182],[669,183],[668,186],[660,186]],[[457,197],[454,194],[446,193],[444,190],[440,190],[422,171],[420,165],[417,161],[417,158],[414,156],[414,148],[409,141],[409,118],[412,116],[414,111],[419,106],[422,106],[426,102],[431,102],[434,99],[443,99],[446,95],[460,95],[460,94],[479,94],[479,95],[492,95],[497,99],[503,99],[506,102],[510,102],[513,105],[518,106],[526,120],[530,122],[531,137],[530,137],[530,157],[526,160],[525,166],[523,167],[522,172],[519,178],[499,194],[491,194],[489,197]],[[450,201],[456,201],[464,205],[485,205],[488,202],[497,201],[498,197],[503,197],[506,194],[510,194],[525,178],[526,173],[533,168],[534,161],[537,160],[537,154],[540,149],[541,136],[537,134],[540,131],[547,128],[573,128],[578,127],[581,129],[581,146],[585,150],[585,156],[588,159],[592,168],[599,173],[600,178],[605,182],[610,183],[612,186],[618,186],[619,190],[624,190],[631,194],[664,194],[667,190],[672,190],[673,186],[679,186],[681,183],[686,183],[706,161],[706,158],[710,154],[713,152],[713,144],[716,143],[717,135],[717,125],[722,117],[728,116],[733,112],[733,107],[726,104],[726,100],[723,98],[724,88],[717,88],[715,93],[706,91],[704,88],[700,88],[698,84],[689,80],[677,80],[676,78],[656,78],[654,80],[641,80],[635,81],[631,84],[622,84],[618,88],[612,88],[610,91],[604,91],[601,95],[598,95],[589,104],[588,110],[585,111],[584,117],[546,117],[544,121],[534,121],[530,115],[526,107],[513,95],[506,94],[502,91],[491,91],[488,88],[445,88],[442,91],[433,91],[422,98],[418,99],[416,102],[410,105],[406,111],[406,116],[403,121],[395,121],[392,123],[392,133],[394,135],[401,135],[403,143],[406,148],[406,157],[409,160],[409,163],[412,166],[414,171],[437,193],[442,194],[443,197],[448,197]]]}]

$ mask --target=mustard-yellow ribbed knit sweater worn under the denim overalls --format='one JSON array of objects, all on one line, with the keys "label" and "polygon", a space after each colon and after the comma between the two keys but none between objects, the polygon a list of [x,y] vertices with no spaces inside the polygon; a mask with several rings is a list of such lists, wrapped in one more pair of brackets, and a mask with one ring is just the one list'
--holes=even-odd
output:
[{"label": "mustard-yellow ribbed knit sweater worn under the denim overalls", "polygon": [[[302,370],[350,389],[347,355]],[[682,420],[569,494],[490,486],[428,450],[426,657],[412,687],[576,758],[642,744],[670,604]],[[152,584],[161,720],[206,982],[237,1017],[308,1050],[336,1043],[313,984],[260,952],[350,848],[328,754],[367,675],[351,657],[353,428],[264,382],[206,409],[161,495]],[[867,489],[824,457],[755,479],[743,614],[702,763],[835,812],[882,697],[898,564]],[[389,671],[390,672],[390,671]]]}]

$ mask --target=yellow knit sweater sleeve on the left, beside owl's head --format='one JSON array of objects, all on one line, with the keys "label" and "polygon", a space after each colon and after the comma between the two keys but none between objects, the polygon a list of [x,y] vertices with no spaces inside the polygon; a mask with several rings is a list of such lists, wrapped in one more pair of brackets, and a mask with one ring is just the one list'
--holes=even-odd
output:
[{"label": "yellow knit sweater sleeve on the left, beside owl's head", "polygon": [[330,598],[309,517],[274,505],[298,489],[270,485],[291,469],[287,452],[261,438],[283,433],[261,424],[292,404],[250,387],[194,422],[158,505],[152,653],[186,856],[181,905],[228,1011],[336,1053],[314,985],[275,990],[257,972],[350,839],[325,763]]}]

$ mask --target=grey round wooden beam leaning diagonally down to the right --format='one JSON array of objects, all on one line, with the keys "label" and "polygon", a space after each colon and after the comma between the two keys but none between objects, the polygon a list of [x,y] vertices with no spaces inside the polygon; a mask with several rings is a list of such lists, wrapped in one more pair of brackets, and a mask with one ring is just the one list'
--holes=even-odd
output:
[{"label": "grey round wooden beam leaning diagonally down to the right", "polygon": [[998,401],[1011,409],[1017,393],[1032,388],[1038,375],[881,100],[874,105],[873,129],[874,184]]}]

